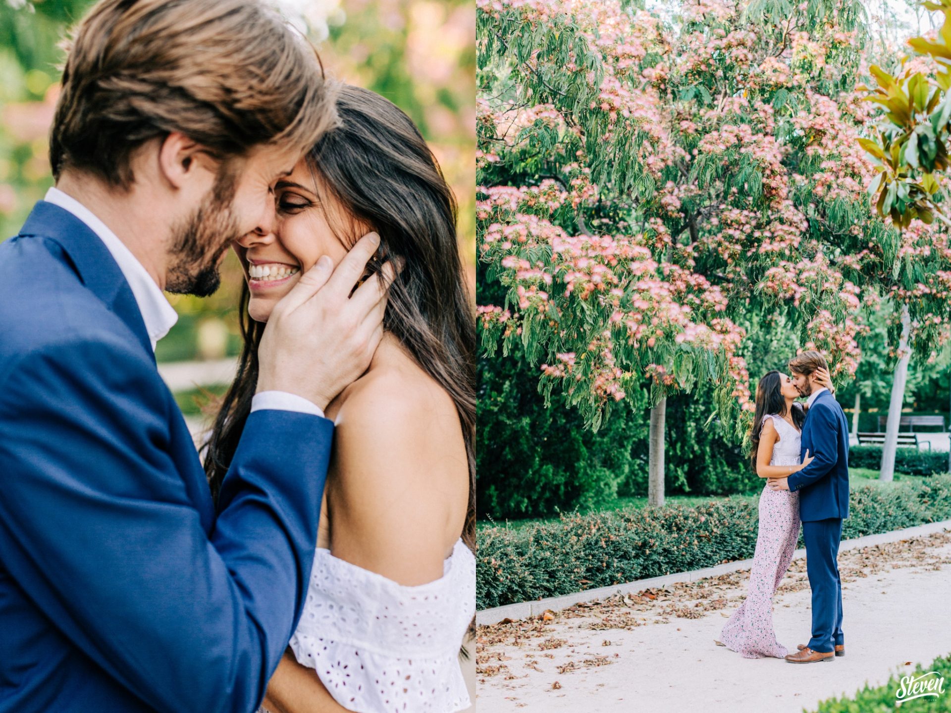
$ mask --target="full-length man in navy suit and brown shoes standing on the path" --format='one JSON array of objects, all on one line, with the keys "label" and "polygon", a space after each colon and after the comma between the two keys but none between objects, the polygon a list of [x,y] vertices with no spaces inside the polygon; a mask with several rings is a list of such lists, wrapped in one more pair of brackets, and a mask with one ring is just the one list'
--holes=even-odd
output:
[{"label": "full-length man in navy suit and brown shoes standing on the path", "polygon": [[812,638],[788,654],[792,664],[834,661],[845,655],[842,632],[842,580],[839,541],[848,517],[848,423],[839,402],[818,384],[817,369],[828,369],[819,352],[804,352],[789,360],[789,373],[799,393],[808,397],[802,453],[811,463],[787,478],[767,481],[772,490],[799,493],[803,521],[805,568],[812,589]]}]

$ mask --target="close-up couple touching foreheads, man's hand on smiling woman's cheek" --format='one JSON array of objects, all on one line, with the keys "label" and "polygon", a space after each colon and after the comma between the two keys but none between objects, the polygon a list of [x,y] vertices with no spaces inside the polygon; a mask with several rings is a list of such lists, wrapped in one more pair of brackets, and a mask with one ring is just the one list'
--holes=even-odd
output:
[{"label": "close-up couple touching foreheads, man's hand on smiling woman's cheek", "polygon": [[[257,0],[102,0],[0,244],[0,711],[470,705],[475,321],[396,106]],[[154,348],[233,249],[202,459]]]}]

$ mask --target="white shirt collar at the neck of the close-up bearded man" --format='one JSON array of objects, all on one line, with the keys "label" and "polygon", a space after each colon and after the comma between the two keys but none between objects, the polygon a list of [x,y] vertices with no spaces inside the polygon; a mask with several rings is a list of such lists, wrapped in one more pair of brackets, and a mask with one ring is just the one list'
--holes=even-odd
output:
[{"label": "white shirt collar at the neck of the close-up bearded man", "polygon": [[165,294],[159,289],[159,285],[148,274],[142,263],[136,260],[126,244],[119,240],[118,236],[109,230],[107,224],[96,218],[92,211],[81,202],[55,187],[47,191],[44,200],[68,210],[80,221],[85,222],[89,229],[106,244],[113,260],[116,261],[119,269],[122,270],[122,274],[126,277],[128,286],[132,289],[132,296],[135,298],[139,312],[142,314],[142,320],[146,323],[148,339],[152,342],[152,349],[154,350],[156,342],[165,337],[168,330],[178,321],[178,313],[165,299]]}]

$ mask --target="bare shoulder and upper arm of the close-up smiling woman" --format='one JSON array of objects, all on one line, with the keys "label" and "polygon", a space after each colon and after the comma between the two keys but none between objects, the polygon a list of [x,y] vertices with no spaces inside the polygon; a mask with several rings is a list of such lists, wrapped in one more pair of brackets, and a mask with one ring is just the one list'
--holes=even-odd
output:
[{"label": "bare shoulder and upper arm of the close-up smiling woman", "polygon": [[[335,414],[331,549],[400,584],[441,576],[468,502],[468,458],[452,397],[415,364],[371,369]],[[457,536],[458,532],[456,532]]]}]

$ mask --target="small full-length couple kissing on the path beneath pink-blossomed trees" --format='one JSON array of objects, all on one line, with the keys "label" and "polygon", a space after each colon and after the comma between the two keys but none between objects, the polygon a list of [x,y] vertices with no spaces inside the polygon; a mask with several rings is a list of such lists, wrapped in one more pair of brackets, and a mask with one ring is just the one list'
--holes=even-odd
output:
[{"label": "small full-length couple kissing on the path beneath pink-blossomed trees", "polygon": [[[750,462],[753,472],[766,479],[756,551],[747,598],[715,643],[745,659],[775,656],[812,664],[845,655],[837,558],[848,517],[848,424],[833,397],[825,357],[803,352],[788,367],[788,375],[769,372],[756,387]],[[800,397],[808,399],[805,409]],[[772,600],[792,562],[800,523],[812,590],[812,636],[789,653],[776,640]]]}]

